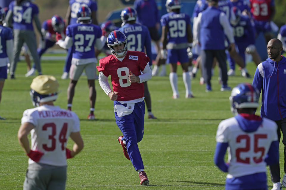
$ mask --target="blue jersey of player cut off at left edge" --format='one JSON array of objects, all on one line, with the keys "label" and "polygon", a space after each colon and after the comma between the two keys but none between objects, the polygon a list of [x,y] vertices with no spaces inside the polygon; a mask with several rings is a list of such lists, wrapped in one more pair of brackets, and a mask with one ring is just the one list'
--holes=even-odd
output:
[{"label": "blue jersey of player cut off at left edge", "polygon": [[8,57],[6,41],[10,39],[13,39],[12,29],[0,25],[0,58]]}]

